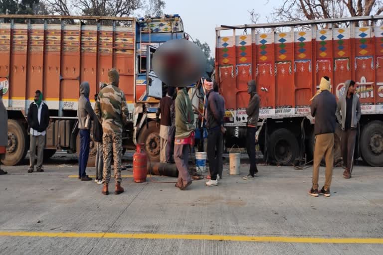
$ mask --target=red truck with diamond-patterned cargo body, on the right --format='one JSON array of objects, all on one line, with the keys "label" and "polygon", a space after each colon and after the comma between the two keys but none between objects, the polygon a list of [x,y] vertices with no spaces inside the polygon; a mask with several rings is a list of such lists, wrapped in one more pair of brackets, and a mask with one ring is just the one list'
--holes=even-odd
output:
[{"label": "red truck with diamond-patterned cargo body, on the right", "polygon": [[[261,100],[259,147],[276,164],[313,155],[310,99],[328,76],[339,99],[356,81],[362,105],[355,155],[383,166],[383,16],[228,26],[216,30],[215,80],[225,98],[226,146],[245,143],[247,81]],[[340,128],[335,160],[341,158]]]}]

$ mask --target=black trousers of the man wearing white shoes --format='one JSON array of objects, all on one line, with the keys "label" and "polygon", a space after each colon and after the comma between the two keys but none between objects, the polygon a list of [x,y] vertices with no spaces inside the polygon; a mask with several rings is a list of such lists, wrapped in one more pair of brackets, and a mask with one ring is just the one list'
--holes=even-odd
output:
[{"label": "black trousers of the man wearing white shoes", "polygon": [[211,180],[217,179],[222,163],[223,134],[220,128],[215,128],[207,132],[207,159],[209,160],[209,170]]}]

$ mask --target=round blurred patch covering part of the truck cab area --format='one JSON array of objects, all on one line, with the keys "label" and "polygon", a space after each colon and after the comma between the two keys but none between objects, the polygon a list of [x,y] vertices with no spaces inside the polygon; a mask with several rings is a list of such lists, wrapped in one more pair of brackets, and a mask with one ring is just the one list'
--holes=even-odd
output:
[{"label": "round blurred patch covering part of the truck cab area", "polygon": [[170,40],[153,55],[153,71],[172,87],[189,86],[205,76],[206,59],[202,50],[188,40]]}]

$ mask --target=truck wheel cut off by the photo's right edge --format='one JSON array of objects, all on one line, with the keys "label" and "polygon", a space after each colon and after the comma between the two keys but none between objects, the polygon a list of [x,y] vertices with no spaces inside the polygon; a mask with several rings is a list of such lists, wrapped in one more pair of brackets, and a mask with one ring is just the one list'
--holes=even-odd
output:
[{"label": "truck wheel cut off by the photo's right edge", "polygon": [[383,122],[373,121],[362,129],[360,148],[366,163],[383,166]]}]

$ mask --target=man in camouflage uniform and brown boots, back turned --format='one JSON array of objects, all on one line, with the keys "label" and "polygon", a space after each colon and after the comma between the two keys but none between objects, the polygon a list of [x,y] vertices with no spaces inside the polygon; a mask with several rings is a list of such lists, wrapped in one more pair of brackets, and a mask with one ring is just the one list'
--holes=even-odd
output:
[{"label": "man in camouflage uniform and brown boots, back turned", "polygon": [[102,194],[109,194],[110,164],[114,161],[114,178],[116,189],[114,194],[124,192],[121,187],[122,128],[128,119],[128,107],[125,94],[118,88],[120,75],[115,68],[108,72],[109,84],[98,93],[95,113],[102,125],[102,142],[104,147],[104,187]]}]

